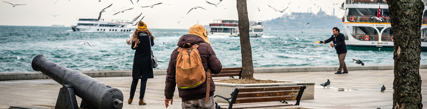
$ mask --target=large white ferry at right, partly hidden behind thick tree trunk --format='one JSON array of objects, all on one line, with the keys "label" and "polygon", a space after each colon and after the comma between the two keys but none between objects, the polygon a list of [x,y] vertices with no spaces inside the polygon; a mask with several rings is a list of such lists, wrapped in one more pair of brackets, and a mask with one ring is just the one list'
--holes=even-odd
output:
[{"label": "large white ferry at right, partly hidden behind thick tree trunk", "polygon": [[[421,51],[427,51],[427,7],[425,0],[423,2]],[[347,32],[344,34],[348,50],[393,51],[393,33],[386,0],[346,0],[344,9],[342,20],[345,30],[341,32]],[[378,10],[381,12],[379,15]]]}]

